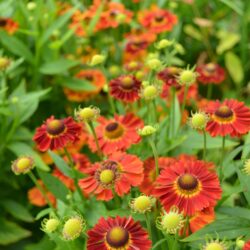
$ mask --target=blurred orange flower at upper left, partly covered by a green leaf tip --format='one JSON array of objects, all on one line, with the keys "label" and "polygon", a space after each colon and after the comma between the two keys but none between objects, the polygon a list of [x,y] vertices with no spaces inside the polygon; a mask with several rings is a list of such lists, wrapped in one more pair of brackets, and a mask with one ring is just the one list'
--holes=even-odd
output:
[{"label": "blurred orange flower at upper left, partly covered by a green leaf tip", "polygon": [[96,69],[81,70],[76,74],[76,78],[87,80],[91,85],[93,85],[94,89],[89,91],[76,91],[69,88],[64,88],[63,91],[67,99],[74,102],[86,101],[89,98],[97,95],[100,93],[106,82],[103,73]]}]

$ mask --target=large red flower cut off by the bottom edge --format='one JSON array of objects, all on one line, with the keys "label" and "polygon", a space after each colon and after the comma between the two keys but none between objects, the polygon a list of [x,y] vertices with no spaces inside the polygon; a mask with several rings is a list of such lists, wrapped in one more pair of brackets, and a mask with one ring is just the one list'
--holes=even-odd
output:
[{"label": "large red flower cut off by the bottom edge", "polygon": [[88,250],[151,249],[148,233],[132,217],[103,217],[88,231]]}]

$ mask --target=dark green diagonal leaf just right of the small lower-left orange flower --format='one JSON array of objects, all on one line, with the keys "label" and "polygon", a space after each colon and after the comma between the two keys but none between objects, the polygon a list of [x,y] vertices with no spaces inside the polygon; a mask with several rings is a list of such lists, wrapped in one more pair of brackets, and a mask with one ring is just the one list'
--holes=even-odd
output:
[{"label": "dark green diagonal leaf just right of the small lower-left orange flower", "polygon": [[67,187],[56,177],[49,173],[38,171],[39,176],[41,177],[46,188],[55,195],[56,198],[67,203],[67,195],[69,190]]}]

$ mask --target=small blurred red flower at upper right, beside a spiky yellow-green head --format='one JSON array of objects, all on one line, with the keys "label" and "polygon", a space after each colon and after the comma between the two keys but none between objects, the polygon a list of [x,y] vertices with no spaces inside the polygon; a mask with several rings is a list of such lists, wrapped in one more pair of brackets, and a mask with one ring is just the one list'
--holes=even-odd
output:
[{"label": "small blurred red flower at upper right, beside a spiky yellow-green head", "polygon": [[215,63],[200,65],[196,72],[197,80],[202,84],[220,84],[225,80],[225,70]]}]

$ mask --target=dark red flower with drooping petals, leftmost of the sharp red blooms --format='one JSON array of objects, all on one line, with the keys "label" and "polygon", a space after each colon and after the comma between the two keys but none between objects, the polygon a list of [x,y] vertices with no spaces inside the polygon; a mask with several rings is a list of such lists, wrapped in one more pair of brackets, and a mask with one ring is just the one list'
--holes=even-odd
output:
[{"label": "dark red flower with drooping petals, leftmost of the sharp red blooms", "polygon": [[55,119],[51,116],[36,129],[33,140],[42,152],[48,149],[56,150],[65,147],[69,142],[79,140],[81,130],[82,127],[72,117]]}]

